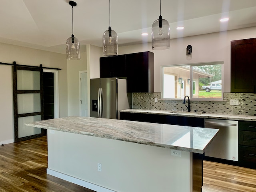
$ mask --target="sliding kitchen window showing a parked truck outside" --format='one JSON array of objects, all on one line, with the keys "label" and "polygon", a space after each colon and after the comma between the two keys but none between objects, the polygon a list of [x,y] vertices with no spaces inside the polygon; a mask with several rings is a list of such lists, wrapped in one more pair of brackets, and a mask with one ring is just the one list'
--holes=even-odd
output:
[{"label": "sliding kitchen window showing a parked truck outside", "polygon": [[[162,66],[162,98],[222,99],[223,61]],[[192,90],[192,91],[190,91]]]}]

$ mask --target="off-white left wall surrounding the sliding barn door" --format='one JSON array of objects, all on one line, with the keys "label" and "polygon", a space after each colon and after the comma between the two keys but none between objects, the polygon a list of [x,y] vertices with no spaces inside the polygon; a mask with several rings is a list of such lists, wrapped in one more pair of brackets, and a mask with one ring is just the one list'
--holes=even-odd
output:
[{"label": "off-white left wall surrounding the sliding barn door", "polygon": [[[59,71],[60,117],[68,115],[67,60],[58,54],[0,43],[0,62],[61,68]],[[0,144],[14,142],[12,66],[0,65]]]}]

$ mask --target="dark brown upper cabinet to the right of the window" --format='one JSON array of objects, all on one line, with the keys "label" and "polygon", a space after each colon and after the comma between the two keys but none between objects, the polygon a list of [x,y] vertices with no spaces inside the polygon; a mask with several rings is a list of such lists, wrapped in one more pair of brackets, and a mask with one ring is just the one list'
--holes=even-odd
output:
[{"label": "dark brown upper cabinet to the right of the window", "polygon": [[231,92],[256,92],[256,38],[231,41]]}]

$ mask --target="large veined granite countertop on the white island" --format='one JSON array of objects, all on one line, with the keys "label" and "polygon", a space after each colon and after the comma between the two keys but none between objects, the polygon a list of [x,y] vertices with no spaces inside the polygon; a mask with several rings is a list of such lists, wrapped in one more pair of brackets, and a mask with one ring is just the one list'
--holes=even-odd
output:
[{"label": "large veined granite countertop on the white island", "polygon": [[203,154],[218,129],[70,116],[26,126]]}]

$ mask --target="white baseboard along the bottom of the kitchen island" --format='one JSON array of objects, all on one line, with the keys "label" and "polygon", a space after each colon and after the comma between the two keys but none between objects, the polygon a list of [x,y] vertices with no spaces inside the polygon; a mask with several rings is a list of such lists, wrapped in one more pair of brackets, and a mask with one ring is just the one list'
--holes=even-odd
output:
[{"label": "white baseboard along the bottom of the kitchen island", "polygon": [[115,192],[113,190],[104,188],[102,186],[98,186],[98,185],[92,184],[90,182],[86,182],[84,180],[80,180],[78,178],[74,178],[72,176],[68,176],[66,174],[63,174],[63,173],[60,173],[60,172],[57,172],[57,171],[54,171],[54,170],[51,170],[51,169],[48,169],[48,168],[46,169],[46,173],[49,174],[49,175],[52,175],[54,177],[63,179],[65,181],[83,186],[85,188],[88,188],[88,189],[91,189],[91,190],[94,190],[94,191],[97,191],[97,192]]}]

